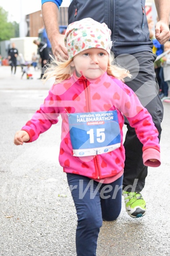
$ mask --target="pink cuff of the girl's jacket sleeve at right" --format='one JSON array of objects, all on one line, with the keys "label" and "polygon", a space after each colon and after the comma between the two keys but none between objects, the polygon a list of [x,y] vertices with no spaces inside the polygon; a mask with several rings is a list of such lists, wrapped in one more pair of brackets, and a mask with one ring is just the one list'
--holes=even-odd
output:
[{"label": "pink cuff of the girl's jacket sleeve at right", "polygon": [[[155,148],[147,148],[143,151],[143,163],[145,166],[158,167],[160,166],[160,153]],[[156,162],[151,162],[149,159],[157,159]]]}]

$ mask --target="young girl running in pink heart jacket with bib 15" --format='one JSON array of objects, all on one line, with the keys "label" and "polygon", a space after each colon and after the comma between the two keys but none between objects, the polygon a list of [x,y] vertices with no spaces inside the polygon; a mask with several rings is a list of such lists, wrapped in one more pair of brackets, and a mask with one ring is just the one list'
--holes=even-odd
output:
[{"label": "young girl running in pink heart jacket with bib 15", "polygon": [[43,105],[15,134],[14,144],[35,141],[62,118],[60,165],[78,216],[78,256],[96,256],[103,220],[121,209],[125,152],[124,115],[143,144],[143,162],[159,166],[158,131],[149,112],[124,84],[127,70],[112,65],[110,29],[91,18],[67,27],[68,60],[53,61],[44,77],[55,77]]}]

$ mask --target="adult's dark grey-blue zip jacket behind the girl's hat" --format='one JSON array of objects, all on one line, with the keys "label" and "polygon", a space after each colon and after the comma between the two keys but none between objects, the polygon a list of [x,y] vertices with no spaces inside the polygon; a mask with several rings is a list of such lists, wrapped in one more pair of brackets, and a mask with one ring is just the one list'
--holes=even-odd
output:
[{"label": "adult's dark grey-blue zip jacket behind the girl's hat", "polygon": [[105,22],[111,29],[115,56],[152,52],[145,14],[145,0],[73,0],[68,8],[68,24],[83,18]]}]

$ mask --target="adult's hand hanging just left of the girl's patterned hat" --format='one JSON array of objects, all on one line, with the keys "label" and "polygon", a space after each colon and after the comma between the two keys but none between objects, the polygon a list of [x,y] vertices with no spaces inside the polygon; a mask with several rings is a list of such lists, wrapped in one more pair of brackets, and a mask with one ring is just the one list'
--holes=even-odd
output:
[{"label": "adult's hand hanging just left of the girl's patterned hat", "polygon": [[67,48],[64,45],[64,35],[57,34],[51,40],[51,47],[56,58],[60,56],[67,59]]}]

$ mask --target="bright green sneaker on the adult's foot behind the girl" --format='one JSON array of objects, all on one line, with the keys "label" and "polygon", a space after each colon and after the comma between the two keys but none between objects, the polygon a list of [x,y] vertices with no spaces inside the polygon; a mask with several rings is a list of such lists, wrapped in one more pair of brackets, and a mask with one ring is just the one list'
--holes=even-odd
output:
[{"label": "bright green sneaker on the adult's foot behind the girl", "polygon": [[125,208],[132,218],[139,218],[146,213],[146,203],[140,192],[122,191]]}]

